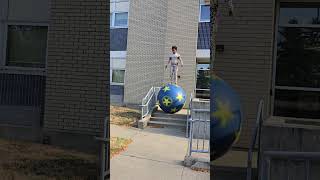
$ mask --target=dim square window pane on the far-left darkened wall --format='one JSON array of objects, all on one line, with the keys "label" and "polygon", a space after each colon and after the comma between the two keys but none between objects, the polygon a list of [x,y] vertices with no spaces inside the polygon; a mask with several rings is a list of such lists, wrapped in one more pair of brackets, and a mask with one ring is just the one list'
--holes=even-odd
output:
[{"label": "dim square window pane on the far-left darkened wall", "polygon": [[45,26],[9,25],[6,65],[44,68],[47,33]]}]

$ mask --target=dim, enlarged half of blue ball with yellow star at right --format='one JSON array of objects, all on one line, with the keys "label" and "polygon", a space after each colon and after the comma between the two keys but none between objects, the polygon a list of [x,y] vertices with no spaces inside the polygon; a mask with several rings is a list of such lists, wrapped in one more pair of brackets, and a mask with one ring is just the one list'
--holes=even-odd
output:
[{"label": "dim, enlarged half of blue ball with yellow star at right", "polygon": [[210,151],[212,160],[215,160],[238,140],[242,111],[237,93],[219,77],[212,79],[210,91]]}]

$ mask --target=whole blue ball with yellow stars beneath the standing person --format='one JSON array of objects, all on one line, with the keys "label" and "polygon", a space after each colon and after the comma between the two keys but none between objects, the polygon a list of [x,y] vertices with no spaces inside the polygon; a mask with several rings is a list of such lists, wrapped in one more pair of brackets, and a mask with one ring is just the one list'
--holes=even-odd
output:
[{"label": "whole blue ball with yellow stars beneath the standing person", "polygon": [[167,84],[159,91],[158,103],[160,108],[166,113],[174,114],[180,111],[185,102],[186,93],[178,85]]}]

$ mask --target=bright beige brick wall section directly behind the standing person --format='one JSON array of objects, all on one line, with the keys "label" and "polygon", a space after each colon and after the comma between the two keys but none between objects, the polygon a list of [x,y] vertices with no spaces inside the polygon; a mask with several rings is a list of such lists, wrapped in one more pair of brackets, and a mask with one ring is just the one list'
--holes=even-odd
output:
[{"label": "bright beige brick wall section directly behind the standing person", "polygon": [[[178,85],[186,91],[188,101],[190,94],[196,87],[199,1],[169,1],[168,9],[164,63],[167,63],[168,56],[172,53],[171,47],[177,46],[184,64],[183,68],[179,67],[178,74],[181,79],[178,80]],[[165,82],[170,82],[169,70],[165,71],[164,79]]]}]

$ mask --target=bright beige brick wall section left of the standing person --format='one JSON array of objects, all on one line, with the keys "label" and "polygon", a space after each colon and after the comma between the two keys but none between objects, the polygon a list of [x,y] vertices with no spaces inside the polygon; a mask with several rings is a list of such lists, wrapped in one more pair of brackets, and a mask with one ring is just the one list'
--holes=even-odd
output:
[{"label": "bright beige brick wall section left of the standing person", "polygon": [[163,81],[167,7],[166,0],[130,1],[124,103],[140,104]]}]

